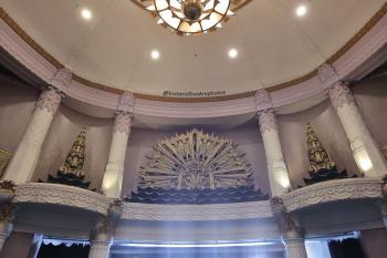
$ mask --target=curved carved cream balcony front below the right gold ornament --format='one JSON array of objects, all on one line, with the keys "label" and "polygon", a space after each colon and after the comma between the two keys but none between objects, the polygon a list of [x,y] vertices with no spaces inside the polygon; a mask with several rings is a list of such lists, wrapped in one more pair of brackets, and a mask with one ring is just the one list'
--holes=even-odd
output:
[{"label": "curved carved cream balcony front below the right gold ornament", "polygon": [[383,198],[381,179],[347,178],[328,180],[305,186],[283,195],[281,198],[287,211],[335,200]]}]

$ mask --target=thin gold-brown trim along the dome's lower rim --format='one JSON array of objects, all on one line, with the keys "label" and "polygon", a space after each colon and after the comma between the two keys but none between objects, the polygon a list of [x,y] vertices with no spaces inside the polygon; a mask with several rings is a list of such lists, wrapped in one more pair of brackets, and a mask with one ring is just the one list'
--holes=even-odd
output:
[{"label": "thin gold-brown trim along the dome's lower rim", "polygon": [[[343,56],[352,47],[354,47],[374,25],[387,13],[387,1],[381,6],[381,8],[369,19],[369,21],[347,43],[345,43],[338,51],[331,55],[324,63],[334,63],[341,56]],[[0,18],[21,38],[28,43],[34,51],[36,51],[41,56],[49,61],[56,69],[64,68],[64,65],[57,61],[53,55],[48,53],[41,45],[39,45],[7,12],[3,8],[0,8]],[[280,83],[270,87],[266,87],[269,92],[279,91],[293,86],[295,84],[302,83],[315,76],[317,74],[317,69],[306,73],[303,76],[297,79]],[[76,82],[83,83],[87,86],[107,91],[111,93],[122,94],[123,90],[111,87],[104,84],[100,84],[87,79],[84,79],[77,74],[73,75],[73,80]],[[229,101],[237,100],[242,97],[253,96],[255,91],[243,92],[238,94],[230,94],[226,96],[210,96],[210,97],[169,97],[169,96],[159,96],[142,93],[133,93],[135,97],[143,100],[151,101],[161,101],[161,102],[177,102],[177,103],[197,103],[197,102],[217,102],[217,101]]]}]

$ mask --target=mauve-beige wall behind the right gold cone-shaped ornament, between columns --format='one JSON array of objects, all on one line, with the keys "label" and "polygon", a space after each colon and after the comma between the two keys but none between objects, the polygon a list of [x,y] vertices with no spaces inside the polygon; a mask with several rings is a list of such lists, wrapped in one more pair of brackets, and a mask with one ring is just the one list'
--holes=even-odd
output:
[{"label": "mauve-beige wall behind the right gold cone-shaped ornament, between columns", "polygon": [[346,168],[348,174],[358,172],[352,155],[349,142],[342,124],[328,101],[303,112],[279,115],[279,130],[284,158],[293,188],[308,177],[308,157],[305,124],[311,122],[321,143],[335,161],[338,169]]}]

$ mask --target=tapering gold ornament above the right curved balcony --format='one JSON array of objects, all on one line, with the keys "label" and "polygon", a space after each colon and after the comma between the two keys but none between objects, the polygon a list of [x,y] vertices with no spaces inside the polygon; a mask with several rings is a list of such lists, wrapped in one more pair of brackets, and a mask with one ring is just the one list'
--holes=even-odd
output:
[{"label": "tapering gold ornament above the right curved balcony", "polygon": [[335,163],[324,149],[317,135],[314,133],[311,123],[306,124],[307,154],[310,158],[310,172],[320,169],[332,169]]}]

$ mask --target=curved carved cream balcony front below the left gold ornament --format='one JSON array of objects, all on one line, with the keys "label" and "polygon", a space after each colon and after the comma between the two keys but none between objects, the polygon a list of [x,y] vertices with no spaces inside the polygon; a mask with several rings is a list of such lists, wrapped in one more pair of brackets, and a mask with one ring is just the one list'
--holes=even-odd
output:
[{"label": "curved carved cream balcony front below the left gold ornament", "polygon": [[107,215],[112,202],[101,194],[79,187],[28,183],[17,186],[13,203],[62,205]]}]

